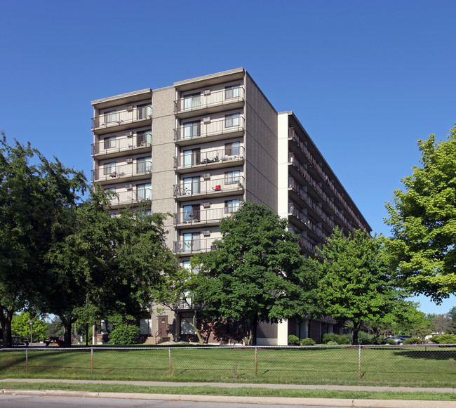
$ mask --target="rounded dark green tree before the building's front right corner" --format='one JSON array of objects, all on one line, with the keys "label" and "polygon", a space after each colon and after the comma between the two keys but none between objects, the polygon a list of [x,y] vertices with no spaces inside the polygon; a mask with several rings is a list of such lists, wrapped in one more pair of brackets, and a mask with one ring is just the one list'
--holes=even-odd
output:
[{"label": "rounded dark green tree before the building's front right corner", "polygon": [[256,343],[259,322],[300,319],[316,313],[316,274],[307,268],[288,222],[267,206],[244,202],[220,223],[216,249],[192,258],[194,302],[203,315],[245,324]]}]

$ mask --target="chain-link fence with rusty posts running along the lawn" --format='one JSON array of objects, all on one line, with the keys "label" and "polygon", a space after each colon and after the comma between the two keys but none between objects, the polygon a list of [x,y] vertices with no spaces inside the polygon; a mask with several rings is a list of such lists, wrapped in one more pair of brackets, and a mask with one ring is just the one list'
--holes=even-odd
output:
[{"label": "chain-link fence with rusty posts running along the lawn", "polygon": [[0,375],[454,387],[456,345],[8,348]]}]

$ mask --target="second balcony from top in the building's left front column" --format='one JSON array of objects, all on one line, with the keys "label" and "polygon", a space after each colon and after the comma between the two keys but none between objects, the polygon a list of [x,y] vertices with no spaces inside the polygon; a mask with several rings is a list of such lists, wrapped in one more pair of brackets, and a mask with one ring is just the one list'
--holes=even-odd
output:
[{"label": "second balcony from top in the building's left front column", "polygon": [[92,157],[121,157],[133,153],[150,152],[152,143],[143,140],[142,136],[133,136],[131,138],[116,138],[116,140],[102,140],[98,143],[92,143]]}]

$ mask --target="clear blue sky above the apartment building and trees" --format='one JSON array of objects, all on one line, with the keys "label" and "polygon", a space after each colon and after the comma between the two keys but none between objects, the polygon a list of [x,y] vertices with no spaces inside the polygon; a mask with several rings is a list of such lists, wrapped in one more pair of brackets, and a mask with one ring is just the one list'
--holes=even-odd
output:
[{"label": "clear blue sky above the apartment building and trees", "polygon": [[389,235],[384,202],[417,140],[456,122],[454,0],[18,0],[0,13],[0,129],[88,178],[90,101],[244,67]]}]

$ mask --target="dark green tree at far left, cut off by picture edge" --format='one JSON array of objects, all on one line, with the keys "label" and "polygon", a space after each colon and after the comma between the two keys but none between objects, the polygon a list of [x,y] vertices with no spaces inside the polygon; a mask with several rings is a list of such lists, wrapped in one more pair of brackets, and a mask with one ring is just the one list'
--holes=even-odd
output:
[{"label": "dark green tree at far left, cut off by picture edge", "polygon": [[11,346],[11,320],[46,294],[44,256],[59,236],[56,225],[86,188],[83,173],[49,162],[30,144],[0,139],[0,323]]}]

